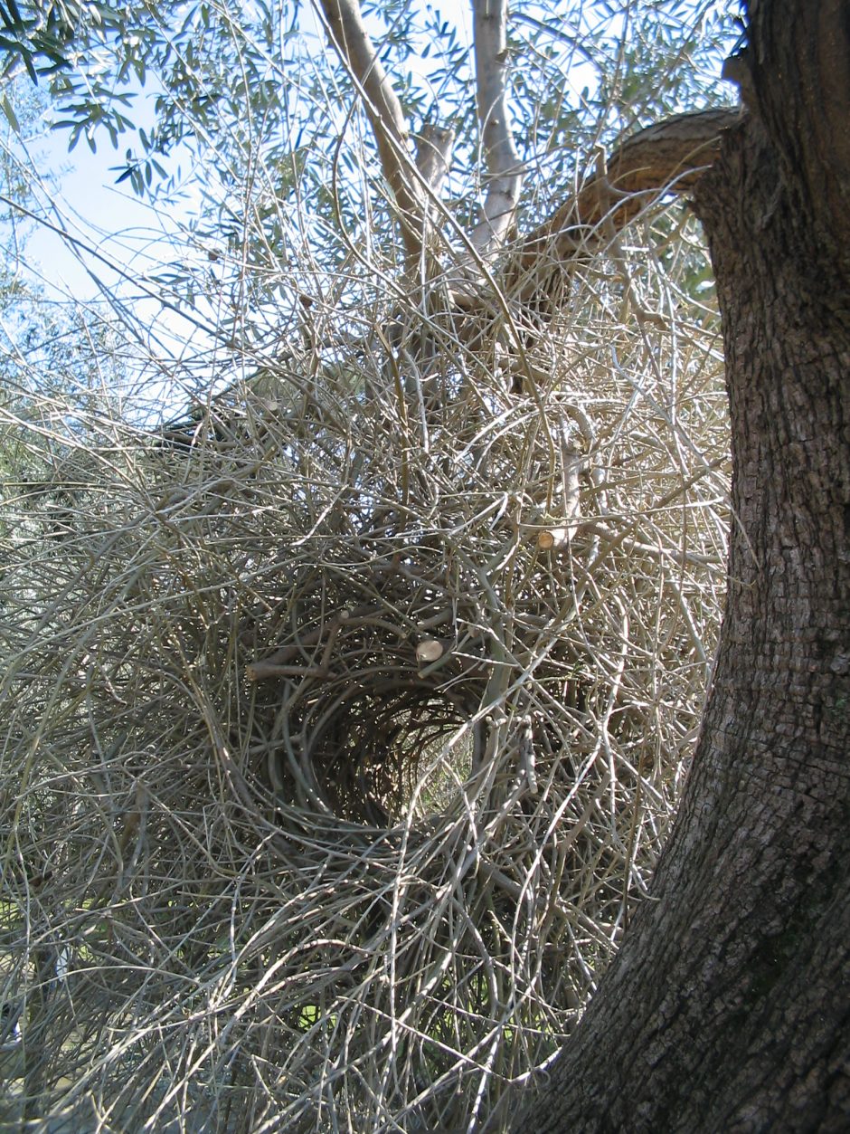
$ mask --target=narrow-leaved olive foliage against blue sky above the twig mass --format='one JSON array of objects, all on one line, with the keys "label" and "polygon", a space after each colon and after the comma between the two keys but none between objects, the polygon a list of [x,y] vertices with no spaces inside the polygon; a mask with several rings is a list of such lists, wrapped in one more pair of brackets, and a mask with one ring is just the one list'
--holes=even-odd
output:
[{"label": "narrow-leaved olive foliage against blue sky above the twig mass", "polygon": [[[587,3],[564,15],[516,6],[505,50],[522,66],[511,70],[510,126],[529,226],[541,186],[553,197],[571,189],[577,154],[671,111],[720,101],[715,44],[733,26],[726,7]],[[452,211],[460,227],[473,227],[486,162],[468,20],[458,25],[451,10],[407,0],[365,5],[363,14],[406,127],[451,128]],[[53,128],[68,132],[70,149],[111,145],[117,181],[137,194],[168,200],[190,180],[205,195],[198,237],[216,245],[223,237],[239,269],[248,252],[261,269],[254,288],[273,294],[307,235],[311,257],[321,252],[330,268],[340,235],[356,243],[364,222],[382,225],[386,195],[371,176],[375,143],[364,130],[358,81],[322,50],[324,18],[311,5],[12,2],[3,17],[7,70],[49,87]],[[202,163],[203,177],[193,175]],[[181,273],[158,284],[189,298],[199,286]]]}]

